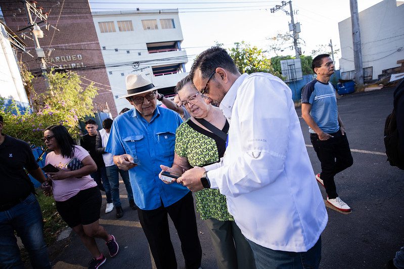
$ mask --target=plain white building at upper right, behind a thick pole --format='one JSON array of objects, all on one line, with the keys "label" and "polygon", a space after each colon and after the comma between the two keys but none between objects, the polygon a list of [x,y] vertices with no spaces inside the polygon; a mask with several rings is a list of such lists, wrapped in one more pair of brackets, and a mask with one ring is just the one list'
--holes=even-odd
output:
[{"label": "plain white building at upper right, behind a thick pole", "polygon": [[[362,62],[366,80],[380,79],[404,59],[404,2],[384,0],[359,13]],[[342,79],[353,79],[351,18],[338,23]]]}]

